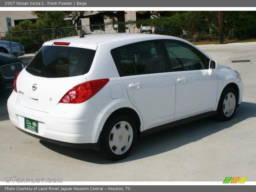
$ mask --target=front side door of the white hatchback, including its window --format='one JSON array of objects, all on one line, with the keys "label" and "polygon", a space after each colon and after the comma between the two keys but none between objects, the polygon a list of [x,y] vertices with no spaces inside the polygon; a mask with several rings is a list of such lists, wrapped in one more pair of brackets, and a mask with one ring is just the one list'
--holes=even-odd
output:
[{"label": "front side door of the white hatchback, including its window", "polygon": [[195,47],[163,40],[176,84],[174,120],[213,111],[217,99],[216,74],[208,73],[209,59]]}]

